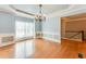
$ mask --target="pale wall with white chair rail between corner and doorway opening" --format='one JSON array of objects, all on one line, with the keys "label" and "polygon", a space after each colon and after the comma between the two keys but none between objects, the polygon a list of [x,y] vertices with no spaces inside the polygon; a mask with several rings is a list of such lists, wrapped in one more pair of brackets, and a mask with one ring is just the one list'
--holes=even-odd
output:
[{"label": "pale wall with white chair rail between corner and doorway opening", "polygon": [[59,16],[48,17],[46,22],[42,22],[44,37],[61,41],[60,25],[61,25],[61,21]]}]

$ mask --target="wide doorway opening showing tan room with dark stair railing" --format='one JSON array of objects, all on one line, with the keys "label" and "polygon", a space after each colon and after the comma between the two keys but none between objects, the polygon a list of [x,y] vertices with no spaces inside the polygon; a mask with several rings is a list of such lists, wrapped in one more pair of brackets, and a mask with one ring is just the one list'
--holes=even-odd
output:
[{"label": "wide doorway opening showing tan room with dark stair railing", "polygon": [[62,39],[85,41],[86,13],[61,17]]}]

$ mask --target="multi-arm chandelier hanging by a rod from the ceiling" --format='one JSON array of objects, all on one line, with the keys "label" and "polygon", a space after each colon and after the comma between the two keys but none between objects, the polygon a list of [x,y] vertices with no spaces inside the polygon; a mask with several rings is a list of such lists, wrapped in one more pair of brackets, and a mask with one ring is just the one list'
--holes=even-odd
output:
[{"label": "multi-arm chandelier hanging by a rod from the ceiling", "polygon": [[39,4],[39,14],[35,15],[35,21],[37,22],[46,21],[46,15],[42,14],[42,4]]}]

